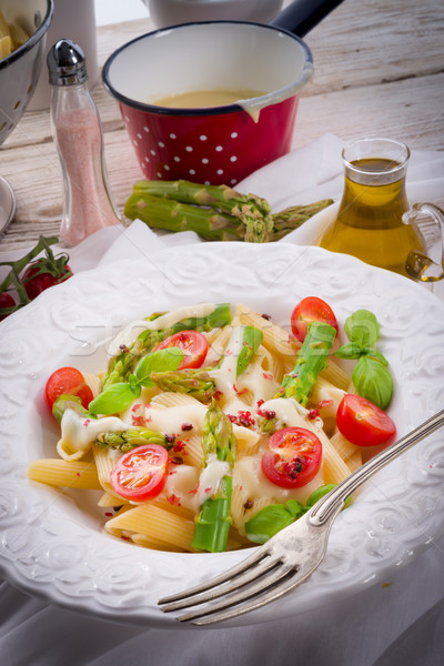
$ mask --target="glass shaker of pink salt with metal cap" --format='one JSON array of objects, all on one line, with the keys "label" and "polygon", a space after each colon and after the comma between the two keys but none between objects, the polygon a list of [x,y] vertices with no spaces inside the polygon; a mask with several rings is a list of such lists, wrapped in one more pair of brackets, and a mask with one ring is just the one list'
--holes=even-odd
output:
[{"label": "glass shaker of pink salt with metal cap", "polygon": [[60,240],[80,243],[99,229],[120,224],[103,155],[99,112],[88,88],[82,49],[69,39],[48,53],[51,125],[63,172],[63,218]]}]

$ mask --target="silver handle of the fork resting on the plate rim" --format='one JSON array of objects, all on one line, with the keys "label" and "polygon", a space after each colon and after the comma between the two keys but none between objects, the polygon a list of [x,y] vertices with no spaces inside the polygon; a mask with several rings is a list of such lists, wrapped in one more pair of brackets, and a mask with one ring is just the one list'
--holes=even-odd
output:
[{"label": "silver handle of the fork resting on the plate rim", "polygon": [[379,472],[386,464],[391,463],[398,455],[411,448],[433,432],[444,425],[444,410],[418,425],[411,433],[397,440],[394,444],[382,451],[374,458],[367,461],[362,467],[344,478],[333,491],[324,495],[311,509],[310,522],[312,525],[324,525],[331,518],[337,515],[339,507],[342,507],[347,497],[373,474]]}]

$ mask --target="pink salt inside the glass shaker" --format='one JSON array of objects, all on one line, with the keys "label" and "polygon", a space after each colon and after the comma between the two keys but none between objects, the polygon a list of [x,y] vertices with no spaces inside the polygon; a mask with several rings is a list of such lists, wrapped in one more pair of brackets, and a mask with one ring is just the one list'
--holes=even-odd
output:
[{"label": "pink salt inside the glass shaker", "polygon": [[99,229],[120,224],[120,220],[108,190],[95,111],[63,111],[57,119],[56,133],[65,176],[60,239],[72,246]]}]

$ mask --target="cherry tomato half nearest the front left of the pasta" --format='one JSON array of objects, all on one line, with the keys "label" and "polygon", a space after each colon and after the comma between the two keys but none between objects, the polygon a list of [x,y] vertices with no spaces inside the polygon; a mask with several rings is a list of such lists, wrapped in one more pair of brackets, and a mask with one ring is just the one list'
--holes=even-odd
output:
[{"label": "cherry tomato half nearest the front left of the pasta", "polygon": [[165,485],[168,452],[159,444],[147,444],[129,451],[110,474],[111,487],[118,495],[144,502],[159,495]]}]

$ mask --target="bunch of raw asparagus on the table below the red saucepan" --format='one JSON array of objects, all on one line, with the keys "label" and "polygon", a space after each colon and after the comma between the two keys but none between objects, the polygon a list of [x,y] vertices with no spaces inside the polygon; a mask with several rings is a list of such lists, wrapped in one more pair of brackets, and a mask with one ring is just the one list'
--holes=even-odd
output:
[{"label": "bunch of raw asparagus on the table below the red saucepan", "polygon": [[153,229],[194,231],[210,241],[265,243],[284,238],[331,203],[333,200],[326,199],[272,214],[265,199],[226,185],[140,181],[125,203],[124,215]]}]

